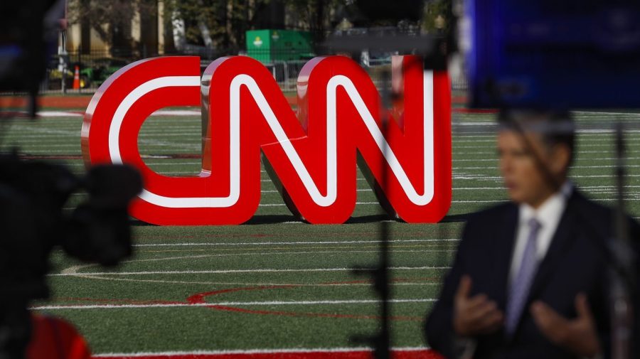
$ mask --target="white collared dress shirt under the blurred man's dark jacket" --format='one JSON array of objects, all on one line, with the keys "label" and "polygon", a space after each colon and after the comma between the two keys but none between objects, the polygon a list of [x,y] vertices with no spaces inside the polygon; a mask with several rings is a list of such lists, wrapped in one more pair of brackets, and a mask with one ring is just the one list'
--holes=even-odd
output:
[{"label": "white collared dress shirt under the blurred man's dark jacket", "polygon": [[513,247],[513,254],[511,257],[511,270],[509,272],[509,283],[516,278],[518,270],[522,262],[522,256],[526,247],[527,237],[530,232],[529,220],[534,218],[540,223],[540,230],[538,231],[538,239],[536,241],[535,254],[538,257],[538,264],[542,261],[549,250],[551,239],[555,234],[555,230],[558,228],[562,213],[567,206],[567,199],[571,195],[573,185],[570,181],[566,181],[560,191],[556,192],[551,197],[547,198],[545,202],[535,209],[530,205],[523,203],[520,205],[518,228],[516,230],[516,243]]}]

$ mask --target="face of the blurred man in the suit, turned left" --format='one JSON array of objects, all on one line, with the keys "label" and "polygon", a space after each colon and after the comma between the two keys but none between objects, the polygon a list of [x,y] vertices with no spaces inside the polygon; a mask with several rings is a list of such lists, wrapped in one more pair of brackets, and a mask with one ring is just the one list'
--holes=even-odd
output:
[{"label": "face of the blurred man in the suit, turned left", "polygon": [[509,198],[533,208],[538,208],[554,192],[553,184],[545,177],[536,156],[543,165],[550,162],[550,154],[538,134],[523,136],[508,129],[498,133],[500,171]]}]

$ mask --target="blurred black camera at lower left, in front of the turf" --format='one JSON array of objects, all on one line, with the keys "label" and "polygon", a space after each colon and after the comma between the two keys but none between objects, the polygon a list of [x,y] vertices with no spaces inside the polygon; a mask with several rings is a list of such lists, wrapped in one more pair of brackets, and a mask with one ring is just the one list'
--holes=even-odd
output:
[{"label": "blurred black camera at lower left, in front of the turf", "polygon": [[[55,247],[112,266],[132,252],[127,205],[142,190],[129,166],[96,166],[79,178],[62,165],[0,156],[0,359],[23,358],[31,333],[28,306],[46,299]],[[63,210],[72,193],[88,199]]]}]

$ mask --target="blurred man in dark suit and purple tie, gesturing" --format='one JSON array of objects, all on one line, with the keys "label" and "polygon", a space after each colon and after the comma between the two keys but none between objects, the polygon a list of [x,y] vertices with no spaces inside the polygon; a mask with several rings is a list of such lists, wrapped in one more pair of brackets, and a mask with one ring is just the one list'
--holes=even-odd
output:
[{"label": "blurred man in dark suit and purple tie, gesturing", "polygon": [[[427,318],[427,341],[447,358],[609,353],[612,211],[567,180],[574,138],[569,114],[501,114],[498,156],[511,202],[469,219]],[[639,233],[633,223],[632,238]]]}]

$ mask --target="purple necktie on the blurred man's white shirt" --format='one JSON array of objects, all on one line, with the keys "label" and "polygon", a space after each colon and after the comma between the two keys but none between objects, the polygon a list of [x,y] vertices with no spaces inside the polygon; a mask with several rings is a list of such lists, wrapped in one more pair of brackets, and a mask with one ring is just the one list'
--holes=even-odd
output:
[{"label": "purple necktie on the blurred man's white shirt", "polygon": [[523,311],[524,304],[529,295],[529,288],[533,282],[535,270],[538,267],[538,258],[536,256],[536,241],[538,231],[540,230],[540,222],[535,218],[529,220],[529,236],[527,244],[522,255],[522,262],[518,270],[517,277],[511,282],[509,288],[508,304],[506,309],[506,333],[511,336],[516,331],[518,321]]}]

